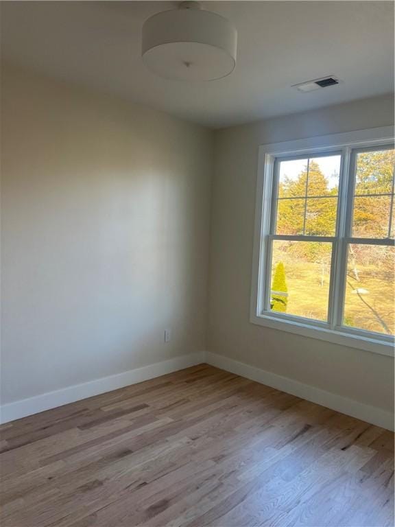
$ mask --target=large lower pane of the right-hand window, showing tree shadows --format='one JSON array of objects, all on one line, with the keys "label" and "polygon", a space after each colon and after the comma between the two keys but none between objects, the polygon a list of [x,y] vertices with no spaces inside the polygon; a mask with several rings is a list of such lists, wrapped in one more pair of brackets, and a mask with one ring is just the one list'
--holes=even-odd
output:
[{"label": "large lower pane of the right-hand window, showing tree shadows", "polygon": [[348,248],[344,325],[394,333],[394,247]]}]

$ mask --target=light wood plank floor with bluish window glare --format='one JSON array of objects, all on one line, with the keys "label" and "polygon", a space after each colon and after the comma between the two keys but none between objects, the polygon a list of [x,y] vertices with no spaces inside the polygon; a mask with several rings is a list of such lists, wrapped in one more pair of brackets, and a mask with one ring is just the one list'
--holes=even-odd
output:
[{"label": "light wood plank floor with bluish window glare", "polygon": [[394,434],[206,364],[0,430],[1,527],[394,522]]}]

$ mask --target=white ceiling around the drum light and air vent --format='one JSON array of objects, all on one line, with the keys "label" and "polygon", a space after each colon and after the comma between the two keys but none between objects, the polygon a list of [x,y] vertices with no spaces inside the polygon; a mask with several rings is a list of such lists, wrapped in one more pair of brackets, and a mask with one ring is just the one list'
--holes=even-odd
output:
[{"label": "white ceiling around the drum light and air vent", "polygon": [[[219,128],[394,89],[392,1],[204,1],[239,33],[237,66],[213,82],[163,80],[141,61],[141,25],[168,1],[1,3],[4,58]],[[291,88],[337,75],[311,93]]]}]

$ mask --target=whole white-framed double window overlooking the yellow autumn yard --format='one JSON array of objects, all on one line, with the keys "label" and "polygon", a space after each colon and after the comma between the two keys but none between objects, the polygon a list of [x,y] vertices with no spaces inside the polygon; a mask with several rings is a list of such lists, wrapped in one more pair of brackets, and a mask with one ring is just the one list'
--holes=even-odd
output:
[{"label": "whole white-framed double window overlooking the yellow autumn yard", "polygon": [[252,322],[392,354],[395,151],[369,132],[261,147]]}]

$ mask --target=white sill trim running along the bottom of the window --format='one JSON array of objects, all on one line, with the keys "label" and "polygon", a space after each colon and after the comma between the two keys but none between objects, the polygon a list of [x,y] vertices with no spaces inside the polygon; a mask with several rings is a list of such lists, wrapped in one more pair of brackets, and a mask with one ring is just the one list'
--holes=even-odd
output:
[{"label": "white sill trim running along the bottom of the window", "polygon": [[327,329],[326,327],[319,327],[304,322],[283,320],[272,315],[258,316],[253,314],[250,318],[250,322],[252,324],[279,329],[280,331],[287,331],[288,333],[294,333],[304,337],[326,340],[326,342],[333,342],[333,344],[340,344],[342,346],[394,357],[393,342],[367,338],[366,336],[346,333],[346,331],[337,331],[335,329]]}]

